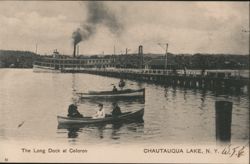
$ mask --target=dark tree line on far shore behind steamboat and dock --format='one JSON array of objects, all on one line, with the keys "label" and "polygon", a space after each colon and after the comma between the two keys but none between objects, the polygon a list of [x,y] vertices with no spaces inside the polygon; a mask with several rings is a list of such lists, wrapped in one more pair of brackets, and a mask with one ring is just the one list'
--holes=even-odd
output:
[{"label": "dark tree line on far shore behind steamboat and dock", "polygon": [[[38,55],[30,51],[0,50],[1,68],[32,68],[33,62],[44,55]],[[52,57],[52,55],[46,55]],[[70,56],[64,55],[66,58]],[[151,60],[165,60],[165,56],[159,54],[144,54],[143,58],[138,54],[127,55],[84,55],[77,58],[114,58],[115,65],[121,68],[139,68],[141,61],[150,64]],[[159,63],[160,64],[160,63]],[[249,69],[249,55],[238,54],[171,54],[167,55],[168,68],[172,69]],[[163,66],[161,66],[163,67]]]}]

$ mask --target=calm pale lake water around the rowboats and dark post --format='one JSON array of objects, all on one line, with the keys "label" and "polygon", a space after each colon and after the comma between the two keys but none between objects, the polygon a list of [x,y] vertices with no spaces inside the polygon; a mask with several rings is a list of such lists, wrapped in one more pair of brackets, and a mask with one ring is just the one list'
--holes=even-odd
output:
[{"label": "calm pale lake water around the rowboats and dark post", "polygon": [[[97,110],[95,101],[78,101],[76,92],[111,90],[119,79],[89,75],[34,73],[31,69],[0,69],[0,140],[53,141],[67,144],[215,143],[215,91],[126,81],[131,89],[145,88],[141,101],[119,101],[122,111],[145,108],[143,123],[79,128],[58,127],[57,115],[77,102],[84,115]],[[243,92],[243,93],[242,93]],[[249,95],[231,92],[231,141],[249,138]],[[111,103],[103,102],[107,113]],[[22,125],[20,125],[22,124]],[[20,127],[18,127],[20,125]]]}]

